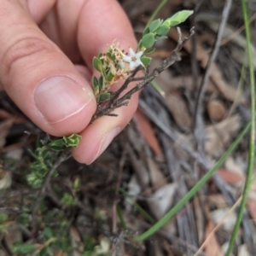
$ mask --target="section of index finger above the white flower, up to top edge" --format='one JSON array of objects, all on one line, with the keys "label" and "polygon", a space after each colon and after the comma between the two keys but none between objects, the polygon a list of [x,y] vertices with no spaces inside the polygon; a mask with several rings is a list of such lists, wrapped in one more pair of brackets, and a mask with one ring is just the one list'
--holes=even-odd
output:
[{"label": "section of index finger above the white flower, up to top edge", "polygon": [[137,46],[130,21],[116,0],[88,1],[79,18],[78,44],[86,65],[91,69],[91,60],[108,49],[113,41],[122,49]]}]

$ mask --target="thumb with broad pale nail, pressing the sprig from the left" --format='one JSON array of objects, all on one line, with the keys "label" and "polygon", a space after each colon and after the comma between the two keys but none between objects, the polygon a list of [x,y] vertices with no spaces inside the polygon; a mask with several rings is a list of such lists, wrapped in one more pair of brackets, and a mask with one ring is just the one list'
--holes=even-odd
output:
[{"label": "thumb with broad pale nail, pressing the sprig from the left", "polygon": [[90,84],[18,1],[0,1],[0,83],[18,107],[55,136],[79,132],[96,102]]}]

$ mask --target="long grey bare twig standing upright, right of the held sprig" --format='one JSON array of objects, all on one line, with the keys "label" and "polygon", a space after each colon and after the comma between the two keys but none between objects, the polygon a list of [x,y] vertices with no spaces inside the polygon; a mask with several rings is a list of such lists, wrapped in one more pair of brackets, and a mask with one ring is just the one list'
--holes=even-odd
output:
[{"label": "long grey bare twig standing upright, right of the held sprig", "polygon": [[213,47],[212,55],[210,56],[210,59],[207,63],[206,72],[201,81],[201,86],[200,86],[199,94],[197,96],[196,105],[195,105],[194,134],[195,134],[195,141],[197,143],[198,150],[202,156],[204,156],[204,140],[205,140],[205,136],[204,136],[205,132],[204,132],[204,128],[203,128],[204,121],[202,118],[202,102],[203,102],[203,98],[205,95],[205,90],[207,88],[207,83],[208,83],[208,80],[210,77],[210,73],[212,70],[212,65],[218,55],[219,46],[221,44],[221,38],[224,33],[224,27],[226,26],[227,19],[230,14],[231,3],[232,3],[232,0],[225,1],[224,10],[222,13],[222,20],[221,20],[220,26],[218,28],[218,35],[217,35],[217,38],[216,38],[216,41],[215,41],[215,44]]}]

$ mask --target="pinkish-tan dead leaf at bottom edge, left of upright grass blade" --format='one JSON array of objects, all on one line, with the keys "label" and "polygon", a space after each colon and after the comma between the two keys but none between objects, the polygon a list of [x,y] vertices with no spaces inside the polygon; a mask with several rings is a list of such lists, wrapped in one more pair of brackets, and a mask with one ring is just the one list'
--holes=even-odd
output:
[{"label": "pinkish-tan dead leaf at bottom edge, left of upright grass blade", "polygon": [[208,221],[207,224],[207,229],[206,229],[206,239],[208,236],[211,236],[206,244],[206,253],[207,256],[222,256],[224,255],[223,253],[221,253],[221,247],[218,244],[217,238],[215,233],[211,233],[211,231],[214,228],[214,224],[212,223],[212,221]]}]

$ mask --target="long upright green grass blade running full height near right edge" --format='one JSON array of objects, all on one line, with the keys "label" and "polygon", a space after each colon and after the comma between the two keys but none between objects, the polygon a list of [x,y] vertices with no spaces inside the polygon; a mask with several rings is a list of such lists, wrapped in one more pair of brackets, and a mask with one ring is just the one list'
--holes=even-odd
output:
[{"label": "long upright green grass blade running full height near right edge", "polygon": [[236,224],[232,233],[232,236],[230,238],[230,244],[227,250],[226,256],[230,256],[232,253],[233,247],[236,242],[236,235],[238,233],[240,224],[241,224],[241,218],[243,215],[243,212],[246,207],[247,202],[247,196],[250,189],[250,181],[252,178],[253,173],[253,166],[254,166],[254,149],[255,149],[255,81],[254,81],[254,70],[253,70],[253,53],[252,53],[252,47],[251,47],[251,32],[248,22],[248,15],[247,15],[247,4],[245,0],[241,0],[241,8],[242,8],[242,15],[244,19],[245,24],[245,32],[246,32],[246,38],[247,38],[247,56],[249,61],[249,74],[250,74],[250,84],[251,84],[251,112],[252,112],[252,126],[251,126],[251,132],[250,132],[250,144],[249,144],[249,158],[248,158],[248,166],[247,166],[247,178],[245,181],[243,193],[242,193],[242,199],[241,199],[241,206],[238,212],[238,216],[236,219]]}]

